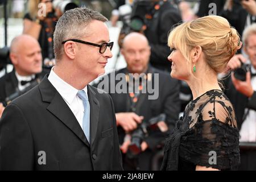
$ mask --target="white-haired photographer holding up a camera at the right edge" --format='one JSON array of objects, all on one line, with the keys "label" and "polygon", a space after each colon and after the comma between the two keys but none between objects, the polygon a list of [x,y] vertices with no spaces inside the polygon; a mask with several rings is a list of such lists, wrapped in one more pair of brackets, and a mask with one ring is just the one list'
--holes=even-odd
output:
[{"label": "white-haired photographer holding up a camera at the right edge", "polygon": [[243,31],[243,55],[235,55],[228,63],[234,72],[225,80],[226,95],[235,107],[240,141],[256,142],[256,24]]}]

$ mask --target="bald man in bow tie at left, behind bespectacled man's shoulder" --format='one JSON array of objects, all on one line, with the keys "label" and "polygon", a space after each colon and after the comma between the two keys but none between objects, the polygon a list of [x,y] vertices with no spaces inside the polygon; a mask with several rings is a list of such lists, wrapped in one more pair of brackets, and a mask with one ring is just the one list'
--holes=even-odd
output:
[{"label": "bald man in bow tie at left, behind bespectacled man's shoulder", "polygon": [[30,35],[20,35],[12,40],[10,60],[14,66],[13,71],[0,78],[0,102],[3,106],[18,92],[36,85],[46,74],[42,71],[39,43]]}]

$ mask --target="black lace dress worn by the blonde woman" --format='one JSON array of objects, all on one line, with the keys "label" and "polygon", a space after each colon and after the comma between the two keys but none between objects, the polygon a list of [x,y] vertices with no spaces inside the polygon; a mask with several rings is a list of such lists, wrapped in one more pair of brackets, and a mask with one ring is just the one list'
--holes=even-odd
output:
[{"label": "black lace dress worn by the blonde woman", "polygon": [[210,90],[189,102],[164,148],[162,170],[206,166],[236,170],[240,164],[239,132],[228,97]]}]

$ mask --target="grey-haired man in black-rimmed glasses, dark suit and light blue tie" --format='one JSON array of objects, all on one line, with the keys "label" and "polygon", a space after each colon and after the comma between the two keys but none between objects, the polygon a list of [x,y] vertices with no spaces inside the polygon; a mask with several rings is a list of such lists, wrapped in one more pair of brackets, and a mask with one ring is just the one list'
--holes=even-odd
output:
[{"label": "grey-haired man in black-rimmed glasses, dark suit and light blue tie", "polygon": [[3,111],[0,169],[122,170],[112,99],[88,85],[112,57],[106,20],[86,8],[61,16],[55,67]]}]

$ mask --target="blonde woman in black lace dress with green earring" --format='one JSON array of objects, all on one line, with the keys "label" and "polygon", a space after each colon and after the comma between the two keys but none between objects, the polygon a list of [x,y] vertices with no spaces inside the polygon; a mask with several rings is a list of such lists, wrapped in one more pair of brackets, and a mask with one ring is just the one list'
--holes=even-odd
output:
[{"label": "blonde woman in black lace dress with green earring", "polygon": [[168,36],[171,76],[187,82],[193,100],[166,142],[163,170],[234,170],[240,163],[236,116],[217,74],[237,49],[240,36],[221,16],[180,24]]}]

